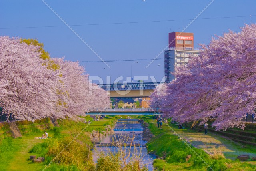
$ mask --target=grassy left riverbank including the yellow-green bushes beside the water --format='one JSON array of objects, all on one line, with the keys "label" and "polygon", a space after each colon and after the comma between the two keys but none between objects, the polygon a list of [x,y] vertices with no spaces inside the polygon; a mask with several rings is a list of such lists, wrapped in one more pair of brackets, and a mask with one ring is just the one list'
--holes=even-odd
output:
[{"label": "grassy left riverbank including the yellow-green bushes beside the water", "polygon": [[[92,121],[90,117],[86,117],[86,119]],[[108,116],[102,121],[93,121],[84,131],[104,130],[106,125],[114,125],[116,119],[117,117]],[[52,125],[50,119],[43,119],[34,123],[18,121],[17,125],[22,137],[16,139],[12,138],[8,124],[1,123],[0,171],[37,171],[44,169],[46,164],[50,163],[53,157],[88,125],[82,121],[75,122],[69,119],[58,120],[58,123],[60,127]],[[41,137],[44,131],[49,133],[49,139],[35,139],[35,137]],[[46,170],[79,170],[84,164],[92,165],[88,162],[91,156],[84,157],[85,154],[88,154],[88,150],[84,149],[90,150],[92,148],[89,137],[81,134],[70,147],[72,148],[67,148],[67,152],[59,157],[58,163],[62,164],[52,163]],[[28,160],[30,155],[46,157],[46,161],[44,163],[32,163]]]}]

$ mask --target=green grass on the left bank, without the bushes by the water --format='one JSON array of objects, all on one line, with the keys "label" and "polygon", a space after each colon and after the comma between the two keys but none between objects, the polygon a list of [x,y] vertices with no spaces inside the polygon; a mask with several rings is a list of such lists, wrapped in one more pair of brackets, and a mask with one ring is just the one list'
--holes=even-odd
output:
[{"label": "green grass on the left bank, without the bushes by the water", "polygon": [[[86,118],[87,121],[93,120],[90,117],[83,118]],[[114,125],[114,121],[117,118],[118,117],[106,117],[102,121],[93,121],[84,131],[103,130],[106,125]],[[44,169],[46,164],[50,162],[49,159],[52,159],[52,157],[47,154],[50,147],[55,147],[56,143],[60,143],[65,137],[74,137],[88,125],[82,121],[75,122],[70,119],[58,120],[58,123],[60,127],[54,127],[50,123],[50,119],[43,119],[34,123],[18,121],[17,125],[22,133],[22,137],[16,139],[12,138],[8,124],[1,124],[0,171],[37,171]],[[35,139],[35,137],[41,137],[44,131],[48,132],[50,139]],[[80,145],[79,143],[77,144],[77,149],[84,142],[92,148],[92,144],[88,141],[88,137],[84,137],[81,134],[77,140],[80,143]],[[61,147],[59,149],[61,149]],[[78,151],[76,153],[78,154]],[[32,163],[28,160],[30,155],[47,157],[48,159],[46,159],[44,163]],[[73,152],[72,155],[74,155]],[[75,171],[79,170],[79,168],[75,164],[58,165],[52,163],[46,170]]]}]

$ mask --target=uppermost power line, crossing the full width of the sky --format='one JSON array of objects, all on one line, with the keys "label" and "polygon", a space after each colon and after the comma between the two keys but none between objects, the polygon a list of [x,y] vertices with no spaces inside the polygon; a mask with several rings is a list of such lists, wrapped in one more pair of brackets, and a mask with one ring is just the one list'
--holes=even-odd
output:
[{"label": "uppermost power line, crossing the full width of the sky", "polygon": [[[212,18],[197,18],[195,20],[209,20],[209,19],[223,19],[223,18],[241,18],[241,17],[255,17],[256,15],[248,16],[229,16],[229,17],[212,17]],[[137,23],[151,23],[151,22],[172,22],[172,21],[187,21],[193,19],[179,19],[179,20],[156,20],[156,21],[142,21],[142,22],[116,22],[116,23],[98,23],[98,24],[74,24],[69,26],[97,26],[97,25],[114,25],[114,24],[137,24]],[[66,25],[61,26],[30,26],[30,27],[9,27],[0,29],[17,29],[17,28],[50,28],[50,27],[67,27]]]}]

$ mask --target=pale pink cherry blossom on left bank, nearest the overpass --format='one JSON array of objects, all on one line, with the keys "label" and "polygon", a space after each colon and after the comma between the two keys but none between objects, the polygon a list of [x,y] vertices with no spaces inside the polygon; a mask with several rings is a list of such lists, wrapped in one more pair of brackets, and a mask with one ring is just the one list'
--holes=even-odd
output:
[{"label": "pale pink cherry blossom on left bank, nearest the overpass", "polygon": [[110,103],[106,91],[90,84],[88,74],[84,74],[84,67],[78,62],[62,58],[53,61],[60,66],[62,88],[58,90],[58,105],[66,116],[82,115],[88,108],[105,108]]}]

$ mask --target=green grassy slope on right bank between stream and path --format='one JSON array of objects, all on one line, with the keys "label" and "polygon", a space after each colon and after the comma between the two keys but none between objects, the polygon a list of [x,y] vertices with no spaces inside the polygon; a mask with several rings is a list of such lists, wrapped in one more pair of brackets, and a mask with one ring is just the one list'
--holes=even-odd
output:
[{"label": "green grassy slope on right bank between stream and path", "polygon": [[[144,121],[149,123],[150,131],[156,136],[147,143],[149,151],[152,151],[160,159],[154,161],[154,167],[159,170],[238,170],[238,171],[250,171],[256,170],[256,166],[247,162],[240,162],[238,160],[226,159],[223,153],[218,149],[210,151],[211,155],[207,154],[204,150],[195,148],[190,145],[186,145],[180,140],[177,135],[174,135],[174,129],[179,135],[182,135],[181,131],[187,131],[191,136],[195,133],[190,130],[178,130],[176,125],[163,124],[162,129],[157,128],[156,122],[153,122],[151,118],[144,117]],[[195,133],[196,134],[196,133]],[[201,136],[204,136],[203,133]],[[183,138],[184,139],[184,138]],[[187,139],[184,139],[187,141]],[[190,144],[190,143],[188,143]],[[248,150],[249,151],[249,150]],[[200,157],[198,157],[196,152]],[[253,157],[253,156],[251,156]],[[205,162],[205,163],[204,163]],[[206,165],[209,165],[209,167]]]}]

